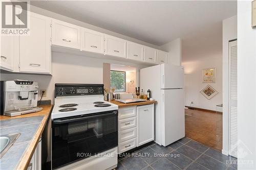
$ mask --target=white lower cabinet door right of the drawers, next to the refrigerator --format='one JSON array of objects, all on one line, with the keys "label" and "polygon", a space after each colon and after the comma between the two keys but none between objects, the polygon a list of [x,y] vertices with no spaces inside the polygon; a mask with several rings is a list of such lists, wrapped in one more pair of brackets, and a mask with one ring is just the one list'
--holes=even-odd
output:
[{"label": "white lower cabinet door right of the drawers, next to the refrigerator", "polygon": [[137,106],[137,147],[154,140],[154,104]]}]

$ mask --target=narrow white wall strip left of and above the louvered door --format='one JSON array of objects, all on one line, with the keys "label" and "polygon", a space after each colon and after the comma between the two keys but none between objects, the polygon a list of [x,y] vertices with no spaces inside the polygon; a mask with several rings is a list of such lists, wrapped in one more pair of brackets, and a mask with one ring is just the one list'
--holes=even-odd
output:
[{"label": "narrow white wall strip left of and above the louvered door", "polygon": [[222,64],[223,64],[223,144],[222,153],[228,155],[228,41],[237,39],[237,16],[232,16],[222,22]]}]

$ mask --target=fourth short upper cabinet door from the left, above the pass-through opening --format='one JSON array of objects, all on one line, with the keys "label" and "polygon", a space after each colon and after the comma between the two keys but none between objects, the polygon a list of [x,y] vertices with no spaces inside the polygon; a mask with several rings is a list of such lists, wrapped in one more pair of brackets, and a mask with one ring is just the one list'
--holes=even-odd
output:
[{"label": "fourth short upper cabinet door from the left, above the pass-through opening", "polygon": [[143,61],[143,45],[127,41],[127,59]]}]

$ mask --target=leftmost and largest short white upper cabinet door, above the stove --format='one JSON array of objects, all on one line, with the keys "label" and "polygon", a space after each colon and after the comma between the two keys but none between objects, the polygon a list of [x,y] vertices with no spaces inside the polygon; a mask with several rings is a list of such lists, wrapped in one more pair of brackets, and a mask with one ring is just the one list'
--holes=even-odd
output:
[{"label": "leftmost and largest short white upper cabinet door, above the stove", "polygon": [[71,23],[52,19],[52,45],[80,50],[81,28]]}]

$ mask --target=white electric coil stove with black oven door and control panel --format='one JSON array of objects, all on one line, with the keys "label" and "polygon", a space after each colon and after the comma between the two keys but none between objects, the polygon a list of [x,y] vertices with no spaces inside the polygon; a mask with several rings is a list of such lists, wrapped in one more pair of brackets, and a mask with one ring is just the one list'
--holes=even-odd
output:
[{"label": "white electric coil stove with black oven door and control panel", "polygon": [[103,100],[103,88],[55,84],[52,169],[117,167],[118,106]]}]

